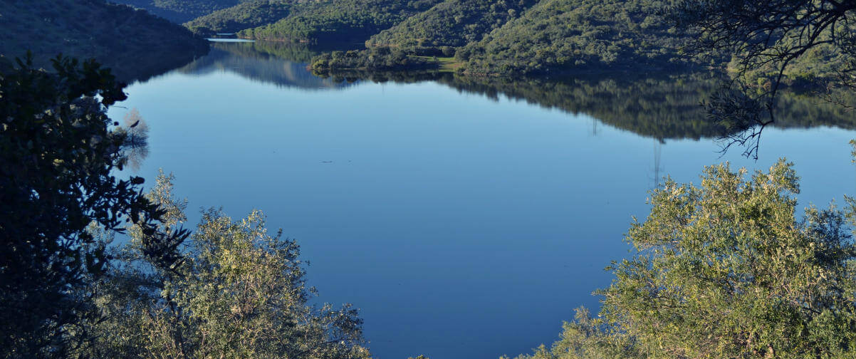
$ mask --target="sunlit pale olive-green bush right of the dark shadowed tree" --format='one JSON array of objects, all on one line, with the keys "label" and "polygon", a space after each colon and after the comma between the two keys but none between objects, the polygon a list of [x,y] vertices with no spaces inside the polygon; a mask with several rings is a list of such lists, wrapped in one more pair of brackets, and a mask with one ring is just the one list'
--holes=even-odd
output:
[{"label": "sunlit pale olive-green bush right of the dark shadowed tree", "polygon": [[[173,177],[158,176],[149,198],[169,209],[163,229],[186,220],[186,201],[172,195]],[[110,313],[95,323],[86,355],[115,357],[367,358],[361,323],[348,305],[307,302],[300,247],[270,236],[264,215],[239,221],[203,213],[187,257],[175,271],[151,266],[138,232],[120,249],[119,265],[99,284],[96,302]]]}]

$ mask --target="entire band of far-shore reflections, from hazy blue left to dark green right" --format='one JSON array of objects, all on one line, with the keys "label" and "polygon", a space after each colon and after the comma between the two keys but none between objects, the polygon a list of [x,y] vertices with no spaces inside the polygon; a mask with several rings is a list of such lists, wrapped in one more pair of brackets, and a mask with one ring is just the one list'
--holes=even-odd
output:
[{"label": "entire band of far-shore reflections, from hazy blue left to dark green right", "polygon": [[[341,89],[360,81],[414,83],[434,81],[461,93],[489,99],[526,101],[573,114],[585,114],[616,129],[658,141],[719,138],[729,135],[700,105],[721,88],[720,75],[588,75],[573,78],[510,79],[440,72],[348,72],[312,75],[306,63],[323,51],[308,45],[245,42],[211,44],[211,52],[182,67],[185,74],[224,71],[253,81],[309,90]],[[818,126],[856,129],[856,117],[812,93],[781,94],[777,128]]]}]

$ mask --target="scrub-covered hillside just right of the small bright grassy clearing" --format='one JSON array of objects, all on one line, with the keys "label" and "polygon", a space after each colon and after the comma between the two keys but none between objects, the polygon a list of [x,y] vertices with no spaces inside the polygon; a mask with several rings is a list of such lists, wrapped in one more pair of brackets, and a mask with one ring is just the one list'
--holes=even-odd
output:
[{"label": "scrub-covered hillside just right of the small bright grassy clearing", "polygon": [[522,16],[458,51],[473,73],[530,74],[568,69],[664,69],[687,63],[686,41],[651,0],[542,0]]}]

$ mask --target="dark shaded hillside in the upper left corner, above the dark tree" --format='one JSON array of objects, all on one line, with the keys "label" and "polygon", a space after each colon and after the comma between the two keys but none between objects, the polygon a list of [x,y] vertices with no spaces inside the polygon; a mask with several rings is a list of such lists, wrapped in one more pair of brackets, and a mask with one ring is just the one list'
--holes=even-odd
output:
[{"label": "dark shaded hillside in the upper left corner, above the dark tree", "polygon": [[208,45],[186,28],[104,0],[0,2],[0,54],[51,69],[52,57],[95,58],[124,81],[146,78],[203,54]]}]

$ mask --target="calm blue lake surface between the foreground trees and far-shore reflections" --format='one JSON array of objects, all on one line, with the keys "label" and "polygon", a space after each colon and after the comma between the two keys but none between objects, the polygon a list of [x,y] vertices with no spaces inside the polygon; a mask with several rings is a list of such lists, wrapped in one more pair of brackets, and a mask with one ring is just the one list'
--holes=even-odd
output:
[{"label": "calm blue lake surface between the foreground trees and far-shore reflections", "polygon": [[[173,172],[189,208],[263,210],[296,238],[324,302],[352,302],[377,358],[497,358],[551,343],[608,286],[656,178],[698,182],[779,157],[800,206],[853,194],[852,130],[766,129],[758,162],[657,141],[585,112],[436,81],[340,84],[305,64],[215,49],[128,87],[151,129],[139,173]],[[114,107],[121,118],[128,109]],[[150,181],[151,182],[151,181]],[[191,224],[199,215],[191,214]]]}]

